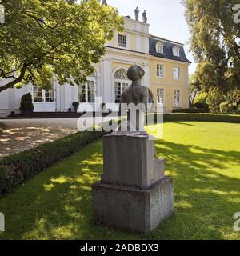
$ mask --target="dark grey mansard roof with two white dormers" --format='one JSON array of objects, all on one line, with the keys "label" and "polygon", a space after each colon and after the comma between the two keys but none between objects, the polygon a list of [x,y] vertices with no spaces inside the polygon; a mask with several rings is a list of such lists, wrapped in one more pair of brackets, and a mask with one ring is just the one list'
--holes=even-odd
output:
[{"label": "dark grey mansard roof with two white dormers", "polygon": [[[156,51],[156,43],[158,43],[158,42],[163,43],[163,54],[159,54]],[[153,56],[159,57],[159,58],[168,58],[168,59],[172,59],[172,60],[179,61],[179,62],[190,62],[186,58],[185,50],[184,50],[182,44],[179,44],[177,42],[176,43],[166,42],[166,41],[163,41],[163,39],[161,40],[161,38],[159,38],[159,39],[150,38],[149,44],[150,44],[150,55],[153,55]],[[174,56],[174,54],[173,54],[174,46],[178,46],[180,48],[180,56],[179,57]]]}]

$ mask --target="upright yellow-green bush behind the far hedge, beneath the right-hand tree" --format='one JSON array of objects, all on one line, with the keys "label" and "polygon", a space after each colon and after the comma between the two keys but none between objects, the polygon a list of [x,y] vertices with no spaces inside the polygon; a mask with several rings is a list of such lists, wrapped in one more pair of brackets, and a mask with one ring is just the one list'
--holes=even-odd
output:
[{"label": "upright yellow-green bush behind the far hedge, beneath the right-hand tree", "polygon": [[210,88],[206,103],[209,105],[209,109],[211,113],[219,113],[219,105],[224,102],[225,98],[222,95],[221,91],[217,88]]}]

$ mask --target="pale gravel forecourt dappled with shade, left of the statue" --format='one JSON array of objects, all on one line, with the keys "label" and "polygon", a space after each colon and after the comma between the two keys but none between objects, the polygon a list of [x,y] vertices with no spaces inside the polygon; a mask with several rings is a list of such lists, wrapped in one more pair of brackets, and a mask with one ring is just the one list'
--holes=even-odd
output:
[{"label": "pale gravel forecourt dappled with shade, left of the statue", "polygon": [[[0,126],[0,158],[78,131],[78,118],[3,119],[0,122],[5,126],[3,129]],[[97,118],[95,122],[102,120]]]}]

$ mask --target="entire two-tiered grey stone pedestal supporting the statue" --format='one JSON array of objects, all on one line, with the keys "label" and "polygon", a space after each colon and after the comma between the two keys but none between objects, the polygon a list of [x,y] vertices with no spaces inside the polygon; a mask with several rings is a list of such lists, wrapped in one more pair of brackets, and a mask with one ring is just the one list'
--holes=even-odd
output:
[{"label": "entire two-tiered grey stone pedestal supporting the statue", "polygon": [[147,135],[105,136],[103,162],[102,180],[93,185],[97,222],[146,233],[173,213],[173,181]]}]

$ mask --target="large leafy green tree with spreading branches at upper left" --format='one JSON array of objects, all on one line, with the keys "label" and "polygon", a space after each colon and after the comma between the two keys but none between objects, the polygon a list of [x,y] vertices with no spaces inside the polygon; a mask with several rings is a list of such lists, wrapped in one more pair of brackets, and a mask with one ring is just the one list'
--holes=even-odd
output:
[{"label": "large leafy green tree with spreading branches at upper left", "polygon": [[53,74],[60,84],[85,82],[114,30],[123,29],[118,11],[98,0],[0,3],[6,11],[5,24],[0,24],[0,79],[6,83],[0,92],[29,82],[50,88]]}]

